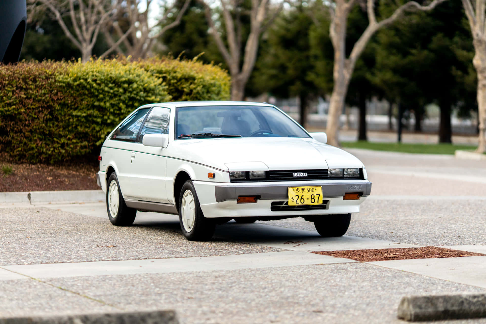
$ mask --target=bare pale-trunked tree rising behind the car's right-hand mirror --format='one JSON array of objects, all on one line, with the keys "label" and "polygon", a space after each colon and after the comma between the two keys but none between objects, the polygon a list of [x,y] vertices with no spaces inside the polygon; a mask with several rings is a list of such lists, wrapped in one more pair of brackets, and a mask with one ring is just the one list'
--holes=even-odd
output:
[{"label": "bare pale-trunked tree rising behind the car's right-hand mirror", "polygon": [[328,124],[326,127],[329,144],[334,146],[339,145],[339,141],[337,139],[337,133],[339,130],[339,116],[343,111],[344,100],[346,98],[349,81],[351,80],[356,61],[360,57],[361,53],[364,51],[364,48],[366,47],[366,44],[371,39],[371,37],[380,28],[393,23],[406,11],[414,9],[422,11],[432,10],[435,6],[444,1],[446,0],[434,0],[427,6],[422,6],[416,1],[408,1],[405,4],[399,6],[399,8],[395,10],[395,12],[390,17],[381,21],[377,21],[374,8],[375,0],[366,0],[366,2],[364,2],[363,0],[362,4],[366,8],[366,12],[368,15],[368,26],[364,30],[363,34],[361,34],[358,41],[354,44],[351,53],[349,54],[349,57],[346,57],[347,17],[353,6],[358,1],[335,0],[332,2],[327,2],[327,5],[325,4],[325,7],[330,12],[331,23],[329,33],[332,46],[334,48],[334,87],[332,89]]}]

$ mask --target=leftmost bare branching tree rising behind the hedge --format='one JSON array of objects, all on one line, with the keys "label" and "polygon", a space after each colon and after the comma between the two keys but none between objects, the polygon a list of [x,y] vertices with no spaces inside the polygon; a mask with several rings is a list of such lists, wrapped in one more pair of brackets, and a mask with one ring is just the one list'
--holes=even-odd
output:
[{"label": "leftmost bare branching tree rising behind the hedge", "polygon": [[[122,0],[28,0],[29,15],[35,15],[36,11],[47,9],[61,26],[64,34],[81,51],[82,62],[87,62],[91,57],[93,47],[98,39],[101,28],[114,17],[120,9]],[[69,30],[63,18],[69,16],[74,33]],[[125,39],[127,33],[121,35],[119,42],[105,51],[100,57],[103,58],[110,51],[116,48]]]}]

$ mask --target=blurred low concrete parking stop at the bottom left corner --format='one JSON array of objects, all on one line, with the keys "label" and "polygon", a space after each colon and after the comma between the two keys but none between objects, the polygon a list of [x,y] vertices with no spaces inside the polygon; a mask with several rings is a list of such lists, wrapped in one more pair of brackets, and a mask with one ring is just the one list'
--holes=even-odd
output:
[{"label": "blurred low concrete parking stop at the bottom left corner", "polygon": [[174,310],[0,318],[0,324],[178,324]]}]

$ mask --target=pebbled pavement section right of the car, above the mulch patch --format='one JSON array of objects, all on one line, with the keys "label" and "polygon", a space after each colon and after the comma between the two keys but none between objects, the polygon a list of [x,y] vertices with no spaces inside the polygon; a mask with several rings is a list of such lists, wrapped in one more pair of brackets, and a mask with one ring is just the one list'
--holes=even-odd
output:
[{"label": "pebbled pavement section right of the car, above the mulch patch", "polygon": [[[484,206],[480,200],[367,200],[351,217],[347,235],[424,246],[486,245]],[[302,218],[261,223],[315,231]]]}]

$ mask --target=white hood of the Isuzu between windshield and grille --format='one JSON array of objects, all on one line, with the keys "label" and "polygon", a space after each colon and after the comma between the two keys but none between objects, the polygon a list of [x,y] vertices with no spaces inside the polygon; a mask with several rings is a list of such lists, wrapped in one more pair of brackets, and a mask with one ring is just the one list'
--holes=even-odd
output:
[{"label": "white hood of the Isuzu between windshield and grille", "polygon": [[254,169],[246,171],[363,167],[352,154],[312,138],[204,138],[177,140],[174,146],[176,158],[225,171],[250,166]]}]

